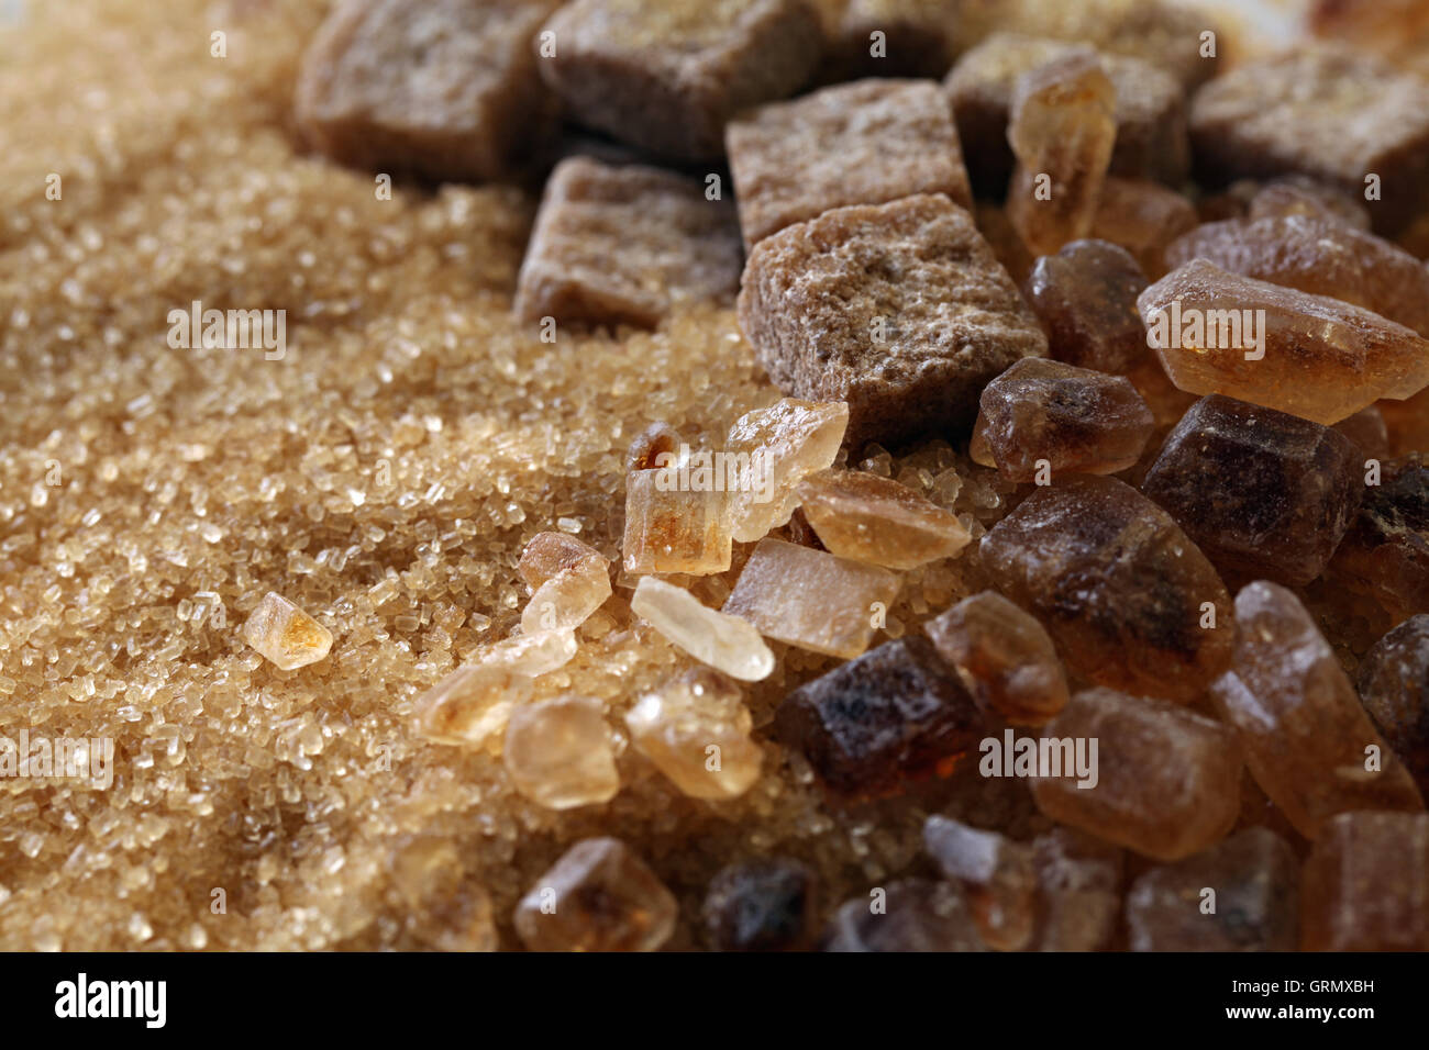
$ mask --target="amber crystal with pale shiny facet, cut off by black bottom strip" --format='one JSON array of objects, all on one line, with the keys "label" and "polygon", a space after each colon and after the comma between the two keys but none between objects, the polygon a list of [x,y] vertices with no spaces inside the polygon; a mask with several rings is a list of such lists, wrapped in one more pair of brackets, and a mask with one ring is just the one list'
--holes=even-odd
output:
[{"label": "amber crystal with pale shiny facet, cut off by black bottom strip", "polygon": [[619,839],[572,846],[516,906],[532,951],[654,951],[674,933],[679,904]]}]

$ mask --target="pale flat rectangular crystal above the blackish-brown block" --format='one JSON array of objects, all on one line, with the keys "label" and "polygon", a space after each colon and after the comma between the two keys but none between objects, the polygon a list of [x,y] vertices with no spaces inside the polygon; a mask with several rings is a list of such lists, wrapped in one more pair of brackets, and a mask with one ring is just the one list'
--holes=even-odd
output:
[{"label": "pale flat rectangular crystal above the blackish-brown block", "polygon": [[869,647],[897,589],[899,577],[886,569],[766,539],[745,563],[725,611],[766,637],[847,660]]}]

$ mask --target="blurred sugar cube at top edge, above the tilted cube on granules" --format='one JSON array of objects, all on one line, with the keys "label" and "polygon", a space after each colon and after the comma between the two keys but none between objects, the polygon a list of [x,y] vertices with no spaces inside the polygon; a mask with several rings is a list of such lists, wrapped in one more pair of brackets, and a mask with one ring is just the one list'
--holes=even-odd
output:
[{"label": "blurred sugar cube at top edge, above the tilted cube on granules", "polygon": [[823,50],[805,0],[574,0],[542,76],[583,124],[682,160],[723,156],[739,110],[793,94]]}]

